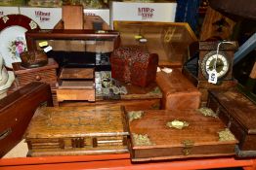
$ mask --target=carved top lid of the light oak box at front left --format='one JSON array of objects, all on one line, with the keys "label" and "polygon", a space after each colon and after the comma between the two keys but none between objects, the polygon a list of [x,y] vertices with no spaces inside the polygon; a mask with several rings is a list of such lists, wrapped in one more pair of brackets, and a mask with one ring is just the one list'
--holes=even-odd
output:
[{"label": "carved top lid of the light oak box at front left", "polygon": [[39,108],[25,138],[67,138],[128,135],[123,112],[118,107]]}]

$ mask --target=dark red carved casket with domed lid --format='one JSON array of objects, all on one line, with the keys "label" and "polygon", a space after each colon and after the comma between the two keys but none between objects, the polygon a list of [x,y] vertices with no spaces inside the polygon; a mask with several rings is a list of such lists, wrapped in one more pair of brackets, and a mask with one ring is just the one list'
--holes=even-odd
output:
[{"label": "dark red carved casket with domed lid", "polygon": [[155,81],[158,55],[140,47],[120,47],[112,52],[110,63],[112,78],[147,86]]}]

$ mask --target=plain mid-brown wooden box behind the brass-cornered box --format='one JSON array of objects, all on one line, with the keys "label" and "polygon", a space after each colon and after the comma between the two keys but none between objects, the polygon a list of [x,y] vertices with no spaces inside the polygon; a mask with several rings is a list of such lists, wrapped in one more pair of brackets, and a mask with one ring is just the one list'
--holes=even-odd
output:
[{"label": "plain mid-brown wooden box behind the brass-cornered box", "polygon": [[162,90],[162,109],[197,109],[201,93],[179,69],[157,72],[156,83]]}]

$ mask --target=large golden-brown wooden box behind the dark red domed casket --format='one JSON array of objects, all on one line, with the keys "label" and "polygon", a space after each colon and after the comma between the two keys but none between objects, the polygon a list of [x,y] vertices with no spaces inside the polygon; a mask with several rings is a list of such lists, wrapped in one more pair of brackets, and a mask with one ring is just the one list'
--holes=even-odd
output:
[{"label": "large golden-brown wooden box behind the dark red domed casket", "polygon": [[182,67],[188,46],[197,41],[188,23],[114,21],[121,46],[140,46],[157,53],[160,66]]}]

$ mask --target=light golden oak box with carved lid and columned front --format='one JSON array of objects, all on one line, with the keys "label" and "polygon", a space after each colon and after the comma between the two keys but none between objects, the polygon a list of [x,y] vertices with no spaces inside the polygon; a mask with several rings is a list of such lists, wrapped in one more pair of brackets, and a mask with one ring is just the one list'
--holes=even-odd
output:
[{"label": "light golden oak box with carved lid and columned front", "polygon": [[39,108],[25,133],[29,156],[127,153],[120,107]]}]

